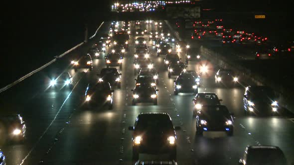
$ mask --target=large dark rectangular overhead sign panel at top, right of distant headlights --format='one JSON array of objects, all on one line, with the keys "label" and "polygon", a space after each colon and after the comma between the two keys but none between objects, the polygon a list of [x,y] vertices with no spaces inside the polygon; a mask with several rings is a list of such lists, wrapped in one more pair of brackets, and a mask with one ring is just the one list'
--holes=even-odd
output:
[{"label": "large dark rectangular overhead sign panel at top, right of distant headlights", "polygon": [[200,6],[168,6],[166,7],[166,16],[171,19],[200,18]]}]

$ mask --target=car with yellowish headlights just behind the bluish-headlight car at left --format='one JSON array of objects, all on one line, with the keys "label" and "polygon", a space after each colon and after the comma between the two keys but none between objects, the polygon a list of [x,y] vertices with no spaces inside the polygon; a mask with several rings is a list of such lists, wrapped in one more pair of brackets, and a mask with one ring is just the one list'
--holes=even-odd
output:
[{"label": "car with yellowish headlights just behind the bluish-headlight car at left", "polygon": [[89,69],[92,71],[93,65],[92,65],[92,57],[89,54],[85,55],[76,55],[72,60],[71,64],[75,70],[75,72],[78,71],[78,69]]}]

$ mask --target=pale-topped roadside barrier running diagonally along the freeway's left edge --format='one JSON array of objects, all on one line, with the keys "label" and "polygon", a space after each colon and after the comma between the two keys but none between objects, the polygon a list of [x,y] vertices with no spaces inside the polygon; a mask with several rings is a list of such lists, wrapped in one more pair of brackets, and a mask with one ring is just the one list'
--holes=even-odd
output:
[{"label": "pale-topped roadside barrier running diagonally along the freeway's left edge", "polygon": [[[91,36],[89,39],[92,39],[92,38],[94,38],[94,37],[96,36],[98,30],[101,28],[101,26],[103,25],[103,23],[104,23],[104,22],[102,22],[102,23],[100,24],[100,26],[97,28],[95,34],[94,34],[93,36]],[[68,53],[70,53],[70,52],[72,52],[73,50],[77,49],[78,47],[82,46],[84,43],[85,43],[85,42],[81,42],[81,43],[79,43],[78,45],[74,46],[73,48],[71,48],[71,49],[67,50],[66,52],[62,53],[61,55],[59,55],[59,56],[54,56],[54,59],[53,59],[53,60],[51,60],[50,62],[48,62],[48,63],[46,63],[45,65],[41,66],[40,68],[38,68],[38,69],[36,69],[36,70],[34,70],[34,71],[32,71],[32,72],[26,74],[25,76],[19,78],[18,80],[14,81],[13,83],[10,83],[10,84],[8,84],[8,85],[6,85],[6,86],[0,88],[0,93],[3,92],[3,91],[5,91],[5,90],[7,90],[7,89],[9,89],[10,87],[16,85],[17,83],[22,82],[23,80],[27,79],[28,77],[32,76],[33,74],[35,74],[35,73],[37,73],[37,72],[43,70],[44,68],[46,68],[46,67],[48,67],[49,65],[51,65],[52,63],[54,63],[54,62],[56,61],[56,59],[58,59],[58,58],[62,58],[63,56],[67,55]]]}]

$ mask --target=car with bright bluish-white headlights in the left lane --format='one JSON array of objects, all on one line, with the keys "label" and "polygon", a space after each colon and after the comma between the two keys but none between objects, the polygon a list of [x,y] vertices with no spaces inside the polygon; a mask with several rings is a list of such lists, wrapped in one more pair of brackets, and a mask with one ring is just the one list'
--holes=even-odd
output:
[{"label": "car with bright bluish-white headlights in the left lane", "polygon": [[45,77],[45,84],[47,89],[73,89],[74,84],[72,76],[65,71],[52,70],[49,72],[49,75]]}]

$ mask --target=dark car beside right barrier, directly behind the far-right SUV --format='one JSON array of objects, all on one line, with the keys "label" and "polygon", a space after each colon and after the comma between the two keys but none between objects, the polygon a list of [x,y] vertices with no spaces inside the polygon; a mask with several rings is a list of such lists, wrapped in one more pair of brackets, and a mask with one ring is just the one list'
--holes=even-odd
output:
[{"label": "dark car beside right barrier, directly behind the far-right SUV", "polygon": [[230,69],[219,69],[215,76],[215,83],[217,85],[225,85],[225,86],[230,86],[230,85],[237,85],[238,82],[240,82],[240,78],[235,72],[233,72]]}]

